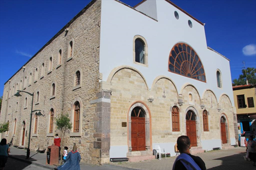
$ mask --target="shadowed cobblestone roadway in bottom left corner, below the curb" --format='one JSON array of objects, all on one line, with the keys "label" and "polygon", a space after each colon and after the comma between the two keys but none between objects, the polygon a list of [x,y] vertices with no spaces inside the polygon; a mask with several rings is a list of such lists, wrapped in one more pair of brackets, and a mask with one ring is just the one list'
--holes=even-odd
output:
[{"label": "shadowed cobblestone roadway in bottom left corner, below the curb", "polygon": [[[13,159],[11,157],[8,158],[7,163],[5,164],[5,170],[46,170],[46,168],[43,168],[41,166],[36,166],[33,164],[29,164],[26,162],[22,162],[17,159]],[[49,169],[47,169],[49,170]]]}]

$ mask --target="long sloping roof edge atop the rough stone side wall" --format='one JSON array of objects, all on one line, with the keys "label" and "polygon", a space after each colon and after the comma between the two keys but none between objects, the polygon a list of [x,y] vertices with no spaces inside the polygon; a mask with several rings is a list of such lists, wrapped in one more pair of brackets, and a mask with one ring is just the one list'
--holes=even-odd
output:
[{"label": "long sloping roof edge atop the rough stone side wall", "polygon": [[81,16],[81,15],[82,15],[90,6],[92,6],[96,1],[97,1],[97,0],[92,0],[89,4],[87,4],[87,5],[83,8],[83,10],[81,10],[78,14],[76,14],[76,16],[75,16],[73,19],[71,19],[59,32],[57,32],[57,33],[55,34],[55,36],[53,36],[41,49],[39,49],[38,52],[37,52],[35,55],[33,55],[33,57],[31,57],[24,65],[22,65],[21,68],[20,68],[17,72],[15,72],[15,73],[12,75],[12,77],[11,77],[10,79],[8,79],[8,80],[4,83],[4,85],[5,85],[7,82],[9,82],[9,80],[11,80],[11,79],[14,77],[14,75],[16,75],[16,74],[22,69],[23,66],[27,65],[38,53],[40,53],[46,46],[48,46],[50,43],[52,43],[52,41],[53,41],[55,38],[57,38],[63,31],[65,31],[65,29],[68,28],[71,23],[73,23],[77,18],[79,18],[79,16]]}]

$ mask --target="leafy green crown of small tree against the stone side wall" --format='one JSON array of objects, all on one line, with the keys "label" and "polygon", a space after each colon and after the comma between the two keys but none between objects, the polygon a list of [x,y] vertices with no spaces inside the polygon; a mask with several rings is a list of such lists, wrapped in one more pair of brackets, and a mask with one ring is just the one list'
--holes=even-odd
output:
[{"label": "leafy green crown of small tree against the stone side wall", "polygon": [[62,133],[65,133],[67,130],[72,128],[68,114],[61,114],[60,116],[56,117],[55,124],[57,129],[59,129]]}]

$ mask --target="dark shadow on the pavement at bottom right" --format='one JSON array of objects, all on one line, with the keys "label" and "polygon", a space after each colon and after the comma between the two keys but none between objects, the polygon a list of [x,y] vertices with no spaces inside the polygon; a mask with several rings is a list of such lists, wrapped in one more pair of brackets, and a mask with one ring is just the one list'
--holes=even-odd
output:
[{"label": "dark shadow on the pavement at bottom right", "polygon": [[222,165],[209,168],[211,170],[221,170],[221,169],[256,169],[253,166],[253,162],[244,160],[245,152],[236,155],[230,155],[226,157],[221,157],[213,160],[222,160]]}]

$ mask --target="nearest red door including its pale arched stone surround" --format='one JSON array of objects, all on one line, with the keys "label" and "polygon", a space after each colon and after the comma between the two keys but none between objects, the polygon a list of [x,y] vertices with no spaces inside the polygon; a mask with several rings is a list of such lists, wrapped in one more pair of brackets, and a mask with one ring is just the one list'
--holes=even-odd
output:
[{"label": "nearest red door including its pale arched stone surround", "polygon": [[137,101],[132,104],[128,115],[129,152],[151,150],[151,115],[145,103]]}]

